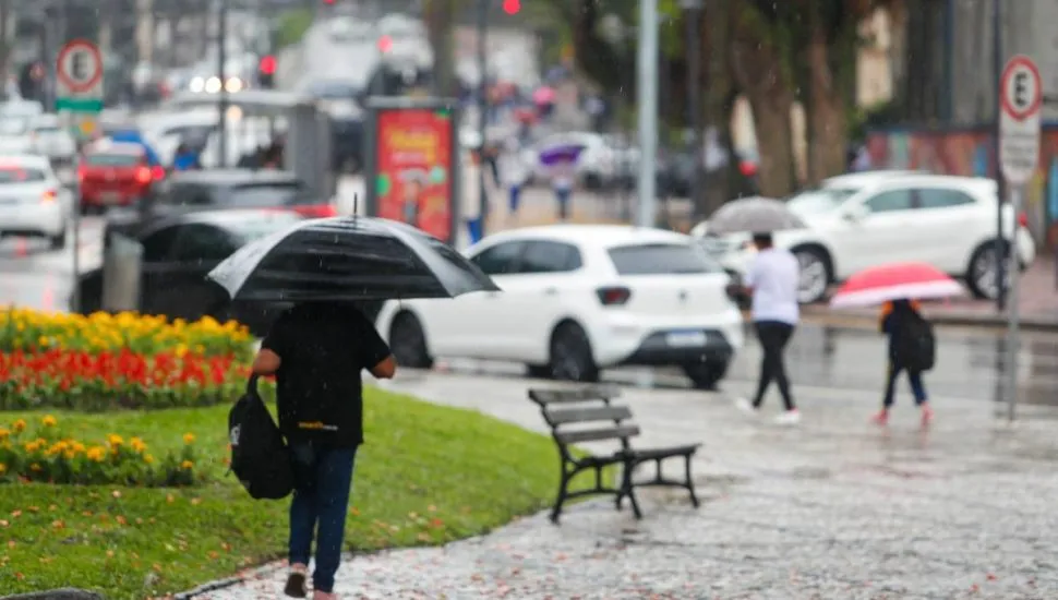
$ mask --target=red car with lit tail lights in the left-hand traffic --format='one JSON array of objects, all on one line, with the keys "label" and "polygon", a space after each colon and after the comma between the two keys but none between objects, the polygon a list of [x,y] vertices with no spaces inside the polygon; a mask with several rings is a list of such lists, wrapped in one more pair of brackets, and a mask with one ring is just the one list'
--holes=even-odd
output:
[{"label": "red car with lit tail lights in the left-hand traffic", "polygon": [[104,142],[89,146],[77,167],[81,209],[101,212],[108,206],[130,206],[151,193],[166,177],[152,167],[143,146]]}]

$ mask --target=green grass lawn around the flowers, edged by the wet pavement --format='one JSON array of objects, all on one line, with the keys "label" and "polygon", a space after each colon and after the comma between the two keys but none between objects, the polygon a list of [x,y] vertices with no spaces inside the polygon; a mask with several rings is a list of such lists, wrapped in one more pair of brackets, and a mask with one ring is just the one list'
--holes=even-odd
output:
[{"label": "green grass lawn around the flowers, edged by the wet pavement", "polygon": [[[438,544],[538,511],[554,496],[549,437],[483,415],[371,389],[346,528],[350,549]],[[288,501],[254,501],[225,477],[227,406],[56,412],[83,441],[139,435],[153,452],[197,437],[214,482],[193,489],[0,485],[0,590],[76,586],[109,600],[190,589],[282,557]],[[0,413],[0,423],[43,412]]]}]

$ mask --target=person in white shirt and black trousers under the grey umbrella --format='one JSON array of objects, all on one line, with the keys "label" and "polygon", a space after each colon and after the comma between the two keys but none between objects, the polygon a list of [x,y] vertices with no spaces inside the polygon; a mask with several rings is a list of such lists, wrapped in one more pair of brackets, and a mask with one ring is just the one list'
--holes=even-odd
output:
[{"label": "person in white shirt and black trousers under the grey umbrella", "polygon": [[774,247],[771,233],[755,233],[753,241],[758,252],[746,274],[745,286],[753,295],[753,323],[764,358],[760,361],[757,395],[753,403],[740,398],[737,406],[756,413],[771,382],[776,382],[785,407],[785,411],[776,421],[793,425],[801,422],[801,413],[797,412],[797,406],[790,393],[783,352],[801,316],[797,304],[801,268],[793,254]]}]

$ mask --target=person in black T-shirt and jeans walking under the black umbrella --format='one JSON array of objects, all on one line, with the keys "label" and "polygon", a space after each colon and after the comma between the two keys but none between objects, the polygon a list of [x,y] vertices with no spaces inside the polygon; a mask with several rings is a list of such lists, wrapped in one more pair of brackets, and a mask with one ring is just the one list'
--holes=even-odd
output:
[{"label": "person in black T-shirt and jeans walking under the black umbrella", "polygon": [[276,320],[261,344],[253,372],[276,376],[279,429],[294,466],[287,596],[308,596],[315,533],[313,599],[336,598],[352,469],[363,443],[360,372],[392,379],[396,368],[374,325],[350,304],[298,304]]}]

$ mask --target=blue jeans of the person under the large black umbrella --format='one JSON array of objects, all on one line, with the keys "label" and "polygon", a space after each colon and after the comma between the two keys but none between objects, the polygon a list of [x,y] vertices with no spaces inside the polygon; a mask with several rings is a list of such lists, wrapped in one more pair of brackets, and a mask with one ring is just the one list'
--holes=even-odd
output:
[{"label": "blue jeans of the person under the large black umbrella", "polygon": [[[290,564],[309,564],[316,533],[316,568],[313,589],[334,591],[334,576],[341,562],[341,544],[349,512],[349,489],[356,447],[330,447],[312,443],[290,445],[298,485],[290,502]],[[318,530],[316,527],[318,525]]]}]

